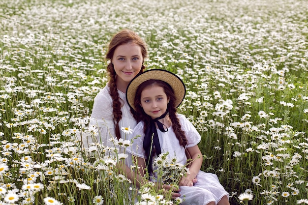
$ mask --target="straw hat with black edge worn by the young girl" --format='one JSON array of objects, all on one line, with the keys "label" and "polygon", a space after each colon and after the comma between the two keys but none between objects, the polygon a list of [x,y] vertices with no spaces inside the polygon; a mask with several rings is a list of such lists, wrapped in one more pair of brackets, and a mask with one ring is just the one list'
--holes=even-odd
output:
[{"label": "straw hat with black edge worn by the young girl", "polygon": [[137,88],[147,80],[161,80],[168,83],[176,96],[176,107],[179,107],[185,97],[186,88],[183,81],[174,73],[168,70],[151,69],[144,71],[131,80],[126,88],[126,100],[128,105],[136,110],[134,100]]}]

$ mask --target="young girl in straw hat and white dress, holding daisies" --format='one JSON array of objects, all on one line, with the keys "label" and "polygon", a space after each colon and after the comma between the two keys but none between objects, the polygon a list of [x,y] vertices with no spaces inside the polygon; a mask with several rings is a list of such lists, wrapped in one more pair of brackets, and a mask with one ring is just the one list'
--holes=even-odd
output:
[{"label": "young girl in straw hat and white dress, holding daisies", "polygon": [[[180,181],[183,205],[230,205],[229,194],[219,183],[216,175],[200,171],[202,154],[198,147],[201,136],[185,116],[177,114],[176,108],[185,96],[185,85],[175,74],[152,69],[136,76],[128,85],[126,100],[137,113],[139,123],[126,150],[137,156],[141,176],[147,168],[151,180],[155,180],[154,158],[169,152],[179,163],[186,164],[186,153],[193,160],[189,174]],[[201,157],[200,157],[201,156]],[[197,179],[195,181],[194,179]]]}]

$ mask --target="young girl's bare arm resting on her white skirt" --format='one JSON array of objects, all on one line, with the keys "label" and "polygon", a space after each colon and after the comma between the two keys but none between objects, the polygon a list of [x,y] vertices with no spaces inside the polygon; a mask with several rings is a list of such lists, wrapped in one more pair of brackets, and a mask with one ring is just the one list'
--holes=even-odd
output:
[{"label": "young girl's bare arm resting on her white skirt", "polygon": [[187,150],[191,156],[192,162],[189,167],[189,175],[182,177],[179,184],[180,186],[193,186],[195,178],[200,171],[203,162],[202,153],[198,145],[188,147]]}]

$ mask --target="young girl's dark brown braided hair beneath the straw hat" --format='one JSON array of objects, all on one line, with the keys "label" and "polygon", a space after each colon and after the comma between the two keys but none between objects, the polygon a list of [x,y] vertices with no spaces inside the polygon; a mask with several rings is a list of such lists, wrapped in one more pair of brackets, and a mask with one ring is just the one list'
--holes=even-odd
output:
[{"label": "young girl's dark brown braided hair beneath the straw hat", "polygon": [[173,89],[170,87],[168,83],[161,81],[161,80],[147,80],[143,82],[142,84],[140,84],[140,86],[136,90],[136,95],[135,95],[135,100],[134,100],[134,106],[136,108],[136,113],[138,116],[137,121],[144,122],[144,132],[145,132],[146,128],[150,125],[150,121],[152,120],[152,118],[144,112],[143,108],[140,105],[141,104],[141,100],[140,100],[141,92],[145,88],[149,88],[153,85],[157,85],[163,88],[165,94],[167,95],[167,97],[169,97],[167,111],[168,111],[169,117],[172,122],[172,129],[175,135],[177,136],[177,139],[179,140],[180,145],[184,146],[185,148],[185,146],[187,145],[187,138],[185,136],[185,132],[181,128],[179,118],[176,116],[176,112],[177,112],[177,108],[175,105],[176,96],[174,94]]}]

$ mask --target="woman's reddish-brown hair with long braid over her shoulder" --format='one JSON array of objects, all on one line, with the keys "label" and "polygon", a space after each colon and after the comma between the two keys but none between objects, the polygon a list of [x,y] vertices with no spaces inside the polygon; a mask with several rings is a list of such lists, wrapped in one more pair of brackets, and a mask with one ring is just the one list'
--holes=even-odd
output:
[{"label": "woman's reddish-brown hair with long braid over her shoulder", "polygon": [[116,136],[118,139],[121,138],[119,121],[122,119],[122,112],[121,112],[122,104],[120,101],[121,98],[119,98],[118,88],[116,85],[116,71],[113,67],[113,64],[111,63],[111,59],[113,58],[116,48],[126,43],[135,43],[141,47],[141,54],[142,54],[143,60],[142,60],[142,66],[141,66],[140,73],[142,73],[145,69],[143,62],[144,62],[144,59],[148,56],[148,51],[147,51],[145,42],[141,39],[139,35],[137,35],[135,32],[131,30],[124,29],[116,33],[112,37],[109,43],[108,52],[106,54],[106,59],[110,60],[107,66],[107,71],[109,74],[108,86],[110,88],[109,94],[113,100],[112,107],[113,107],[114,124],[116,128]]}]

